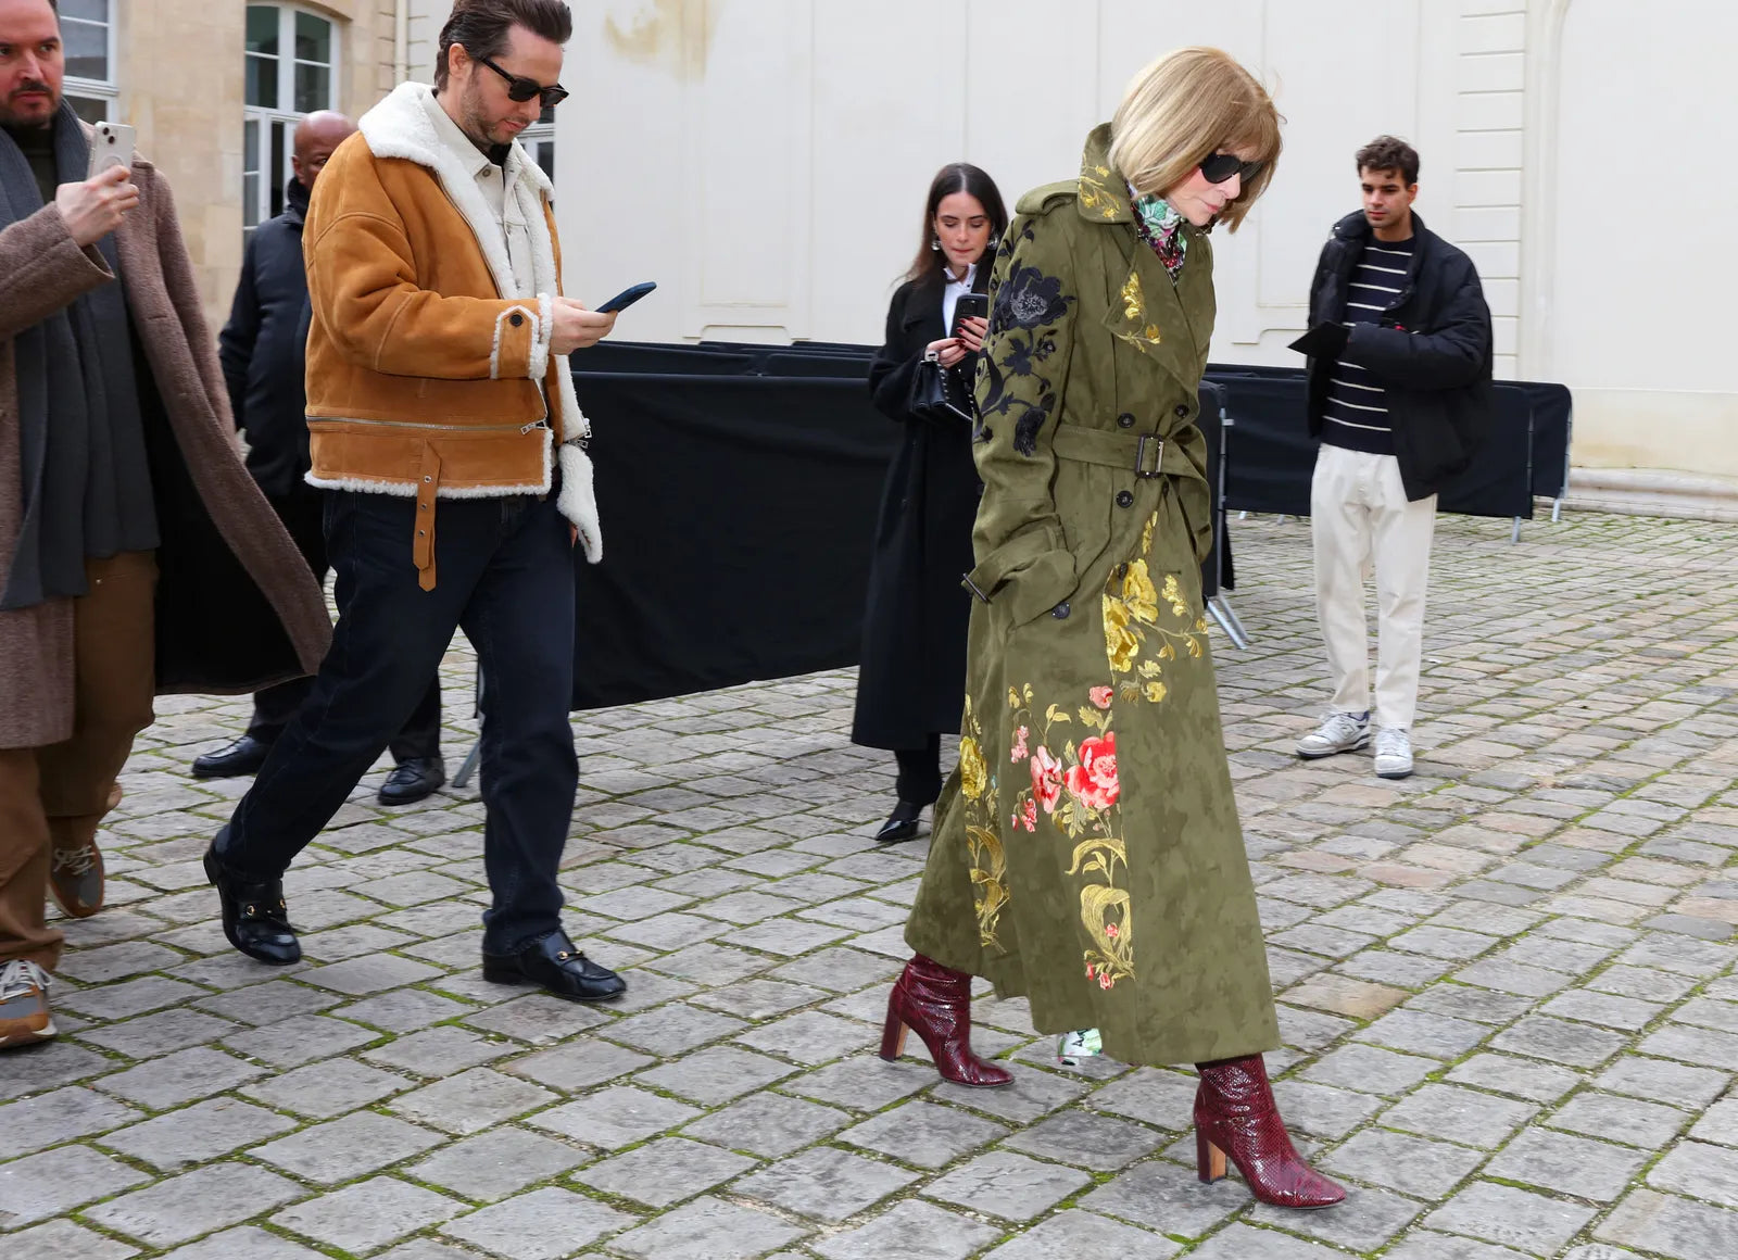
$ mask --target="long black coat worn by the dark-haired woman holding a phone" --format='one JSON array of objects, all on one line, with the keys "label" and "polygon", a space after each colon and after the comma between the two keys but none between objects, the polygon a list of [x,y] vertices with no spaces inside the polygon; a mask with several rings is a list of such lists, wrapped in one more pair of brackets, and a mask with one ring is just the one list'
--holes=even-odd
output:
[{"label": "long black coat worn by the dark-haired woman holding a phone", "polygon": [[[989,259],[973,288],[984,292]],[[965,421],[923,421],[905,410],[911,381],[942,327],[940,275],[909,280],[886,311],[886,339],[869,367],[869,393],[905,429],[893,455],[876,520],[864,613],[862,664],[852,742],[921,749],[933,733],[959,730],[966,681],[966,622],[972,596],[972,523],[978,481],[972,429]],[[973,358],[959,363],[961,396],[972,393]]]}]

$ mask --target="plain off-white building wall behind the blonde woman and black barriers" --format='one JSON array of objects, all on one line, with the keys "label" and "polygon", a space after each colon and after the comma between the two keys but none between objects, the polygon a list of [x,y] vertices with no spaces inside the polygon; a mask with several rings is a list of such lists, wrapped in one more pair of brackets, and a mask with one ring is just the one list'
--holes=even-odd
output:
[{"label": "plain off-white building wall behind the blonde woman and black barriers", "polygon": [[[438,0],[424,9],[445,9]],[[1738,96],[1726,0],[589,0],[558,111],[568,287],[660,288],[647,341],[878,341],[951,160],[1067,177],[1164,49],[1213,43],[1288,116],[1215,242],[1220,360],[1297,363],[1309,280],[1376,132],[1479,264],[1498,375],[1562,381],[1573,459],[1738,481]]]}]

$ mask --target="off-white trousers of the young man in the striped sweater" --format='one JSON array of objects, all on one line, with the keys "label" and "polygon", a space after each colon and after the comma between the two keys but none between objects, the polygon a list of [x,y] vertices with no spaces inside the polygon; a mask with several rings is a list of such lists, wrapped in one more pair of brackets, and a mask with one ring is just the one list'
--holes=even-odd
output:
[{"label": "off-white trousers of the young man in the striped sweater", "polygon": [[1371,721],[1410,730],[1418,711],[1423,598],[1436,495],[1406,501],[1394,455],[1323,443],[1310,481],[1316,613],[1328,645],[1335,713],[1370,709],[1364,579],[1376,572],[1376,704]]}]

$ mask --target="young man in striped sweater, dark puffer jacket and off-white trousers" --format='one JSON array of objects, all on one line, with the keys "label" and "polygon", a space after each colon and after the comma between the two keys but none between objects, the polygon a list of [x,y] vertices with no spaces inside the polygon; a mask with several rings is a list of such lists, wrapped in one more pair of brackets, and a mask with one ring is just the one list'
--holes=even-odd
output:
[{"label": "young man in striped sweater, dark puffer jacket and off-white trousers", "polygon": [[1364,209],[1335,224],[1310,285],[1309,428],[1316,607],[1333,702],[1302,758],[1371,739],[1364,574],[1376,574],[1375,770],[1411,773],[1436,494],[1491,417],[1491,313],[1472,259],[1411,212],[1418,153],[1357,151]]}]

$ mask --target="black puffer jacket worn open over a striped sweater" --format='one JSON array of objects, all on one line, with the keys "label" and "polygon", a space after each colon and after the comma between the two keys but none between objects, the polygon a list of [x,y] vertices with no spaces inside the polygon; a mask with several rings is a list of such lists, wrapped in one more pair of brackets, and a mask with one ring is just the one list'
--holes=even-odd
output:
[{"label": "black puffer jacket worn open over a striped sweater", "polygon": [[[1352,269],[1370,242],[1370,222],[1349,214],[1333,228],[1310,283],[1309,320],[1338,323]],[[1370,370],[1387,389],[1394,455],[1408,499],[1429,499],[1472,464],[1495,410],[1491,395],[1491,311],[1479,271],[1413,216],[1411,269],[1380,323],[1354,323],[1343,358]],[[1333,361],[1309,361],[1309,431],[1321,436]]]}]

